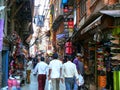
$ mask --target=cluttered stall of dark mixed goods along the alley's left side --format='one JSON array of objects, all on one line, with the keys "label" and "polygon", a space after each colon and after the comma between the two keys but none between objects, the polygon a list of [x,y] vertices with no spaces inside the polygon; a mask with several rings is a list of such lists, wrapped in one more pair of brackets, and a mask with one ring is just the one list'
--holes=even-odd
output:
[{"label": "cluttered stall of dark mixed goods along the alley's left side", "polygon": [[25,60],[28,54],[24,48],[21,38],[16,32],[11,35],[11,55],[9,60],[9,77],[19,78],[20,83],[25,81]]}]

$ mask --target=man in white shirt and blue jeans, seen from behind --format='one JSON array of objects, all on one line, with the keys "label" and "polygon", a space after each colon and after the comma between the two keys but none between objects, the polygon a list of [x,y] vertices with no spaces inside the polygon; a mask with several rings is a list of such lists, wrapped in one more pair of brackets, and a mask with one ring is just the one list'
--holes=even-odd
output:
[{"label": "man in white shirt and blue jeans, seen from behind", "polygon": [[74,88],[74,77],[76,77],[76,82],[78,82],[78,72],[76,65],[72,63],[72,57],[67,56],[67,62],[63,64],[62,77],[65,78],[66,90],[73,90]]}]

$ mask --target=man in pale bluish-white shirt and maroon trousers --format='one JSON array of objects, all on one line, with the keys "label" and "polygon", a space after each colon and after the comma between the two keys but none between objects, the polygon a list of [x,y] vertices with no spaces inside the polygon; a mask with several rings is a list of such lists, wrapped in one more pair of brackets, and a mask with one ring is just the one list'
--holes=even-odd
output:
[{"label": "man in pale bluish-white shirt and maroon trousers", "polygon": [[38,90],[44,90],[48,65],[40,56],[37,59],[39,63],[35,66],[34,74],[38,73]]}]

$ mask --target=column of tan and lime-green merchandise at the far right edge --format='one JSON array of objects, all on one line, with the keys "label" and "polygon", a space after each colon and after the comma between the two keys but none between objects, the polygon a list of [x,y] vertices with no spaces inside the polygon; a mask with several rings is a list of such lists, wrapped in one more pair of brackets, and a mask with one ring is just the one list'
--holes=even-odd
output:
[{"label": "column of tan and lime-green merchandise at the far right edge", "polygon": [[113,65],[113,86],[114,90],[120,90],[120,30],[115,28],[110,39],[112,65]]}]

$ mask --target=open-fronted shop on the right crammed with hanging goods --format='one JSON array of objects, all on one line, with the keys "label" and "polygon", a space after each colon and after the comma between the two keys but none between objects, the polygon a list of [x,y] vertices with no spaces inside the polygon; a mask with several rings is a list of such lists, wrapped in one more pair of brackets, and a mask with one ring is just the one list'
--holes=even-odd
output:
[{"label": "open-fronted shop on the right crammed with hanging goods", "polygon": [[[108,23],[109,22],[109,23]],[[97,26],[95,26],[97,23]],[[114,90],[120,89],[120,27],[119,18],[100,16],[81,30],[76,43],[76,51],[84,55],[85,74],[88,88],[95,84],[101,90],[106,86],[105,49],[110,48]],[[87,30],[89,29],[89,30]],[[86,32],[87,31],[87,32]]]}]

